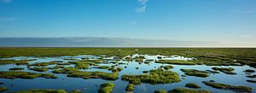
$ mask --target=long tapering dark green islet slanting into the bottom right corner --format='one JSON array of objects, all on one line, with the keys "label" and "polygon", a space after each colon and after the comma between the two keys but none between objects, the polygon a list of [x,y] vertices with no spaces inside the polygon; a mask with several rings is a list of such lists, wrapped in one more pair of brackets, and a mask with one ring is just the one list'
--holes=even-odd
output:
[{"label": "long tapering dark green islet slanting into the bottom right corner", "polygon": [[203,81],[202,83],[206,84],[208,86],[211,86],[212,88],[217,88],[217,89],[233,90],[235,92],[252,92],[252,88],[247,87],[247,86],[235,86],[235,85],[230,85],[230,84],[220,84],[220,83],[211,82],[211,81]]}]

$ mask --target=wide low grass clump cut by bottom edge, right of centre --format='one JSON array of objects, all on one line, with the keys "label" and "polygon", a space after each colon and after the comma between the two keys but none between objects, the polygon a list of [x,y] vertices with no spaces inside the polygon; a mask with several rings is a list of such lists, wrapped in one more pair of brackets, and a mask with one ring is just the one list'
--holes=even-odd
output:
[{"label": "wide low grass clump cut by bottom edge, right of centre", "polygon": [[174,90],[170,90],[168,93],[211,93],[211,91],[177,88],[177,89],[174,89]]}]

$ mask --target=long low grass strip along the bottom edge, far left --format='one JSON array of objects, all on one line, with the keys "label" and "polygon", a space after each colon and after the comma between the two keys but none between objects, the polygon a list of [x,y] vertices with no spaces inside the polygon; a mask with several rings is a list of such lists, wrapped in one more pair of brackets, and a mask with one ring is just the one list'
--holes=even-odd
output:
[{"label": "long low grass strip along the bottom edge, far left", "polygon": [[51,89],[35,89],[35,90],[20,90],[10,93],[68,93],[66,90],[51,90]]}]

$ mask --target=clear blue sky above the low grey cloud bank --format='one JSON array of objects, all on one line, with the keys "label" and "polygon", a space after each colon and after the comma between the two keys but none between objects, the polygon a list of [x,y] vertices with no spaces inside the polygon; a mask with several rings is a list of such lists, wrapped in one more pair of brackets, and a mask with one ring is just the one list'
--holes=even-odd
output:
[{"label": "clear blue sky above the low grey cloud bank", "polygon": [[255,0],[0,0],[0,38],[142,38],[250,44]]}]

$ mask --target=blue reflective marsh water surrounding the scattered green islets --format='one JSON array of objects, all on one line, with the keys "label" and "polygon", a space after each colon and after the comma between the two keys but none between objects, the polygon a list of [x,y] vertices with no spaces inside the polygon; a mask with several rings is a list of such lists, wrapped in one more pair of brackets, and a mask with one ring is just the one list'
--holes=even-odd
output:
[{"label": "blue reflective marsh water surrounding the scattered green islets", "polygon": [[[132,55],[132,57],[137,55]],[[163,55],[144,55],[145,60],[156,60],[158,56],[162,56],[163,59],[168,60],[183,60],[183,61],[190,61],[194,60],[195,58],[186,58],[183,56],[178,55],[172,55],[172,56],[163,56]],[[61,57],[44,57],[44,58],[35,58],[35,57],[26,57],[26,56],[20,56],[20,57],[13,57],[13,58],[5,58],[9,60],[28,60],[28,59],[35,59],[34,61],[30,61],[29,63],[35,63],[35,62],[48,62],[48,61],[79,61],[82,58],[89,58],[89,59],[97,59],[101,56],[95,56],[95,55],[79,55],[79,56],[61,56]],[[72,59],[72,60],[68,60]],[[108,60],[113,59],[113,57],[106,58]],[[3,58],[0,60],[4,60]],[[115,84],[115,87],[113,89],[113,93],[122,93],[125,92],[125,87],[128,84],[126,81],[121,80],[121,76],[123,74],[143,74],[143,71],[148,71],[150,69],[156,69],[157,67],[163,66],[163,64],[160,63],[154,63],[150,62],[149,64],[139,64],[137,61],[119,61],[123,62],[125,64],[119,65],[119,67],[124,68],[121,72],[119,72],[119,78],[117,80],[104,80],[102,78],[90,78],[90,79],[84,79],[84,78],[68,78],[67,74],[55,74],[58,78],[33,78],[33,79],[9,79],[9,78],[0,78],[0,82],[3,82],[4,84],[0,84],[0,86],[8,87],[9,91],[17,91],[17,90],[29,90],[29,89],[63,89],[63,90],[82,90],[85,93],[97,93],[97,90],[99,89],[99,85],[105,82],[113,82]],[[113,63],[110,64],[100,64],[99,66],[112,66]],[[49,67],[54,67],[55,65],[50,65]],[[172,65],[174,68],[170,69],[172,72],[177,72],[181,77],[184,73],[180,71],[181,68],[186,69],[197,69],[197,70],[211,70],[212,67],[215,66],[205,66],[205,65],[195,65],[195,66],[184,66],[184,65]],[[26,72],[32,72],[32,73],[38,73],[36,71],[32,71],[26,68],[26,65],[14,65],[14,64],[8,64],[8,65],[0,65],[0,71],[9,71],[9,68],[12,67],[23,67],[25,68],[23,71]],[[73,67],[73,65],[65,66],[65,67]],[[127,68],[125,68],[127,67]],[[136,67],[139,67],[139,69],[136,69]],[[216,74],[210,74],[207,78],[199,78],[194,76],[187,76],[182,81],[172,84],[139,84],[136,85],[135,90],[133,90],[134,93],[154,93],[154,90],[172,90],[177,87],[184,87],[185,84],[188,83],[196,83],[199,84],[203,90],[211,90],[213,93],[217,92],[225,92],[225,93],[232,93],[231,90],[218,90],[214,89],[210,86],[207,86],[205,84],[202,84],[202,81],[208,81],[208,80],[215,80],[218,83],[223,84],[232,84],[232,85],[245,85],[253,88],[253,92],[256,92],[256,84],[248,83],[247,79],[254,79],[255,78],[247,78],[247,74],[243,71],[246,69],[254,69],[253,67],[248,66],[229,66],[235,68],[236,75],[229,75],[225,73],[216,73]],[[94,72],[94,71],[100,71],[100,72],[106,72],[111,73],[111,71],[108,71],[106,69],[97,69],[94,67],[90,67],[90,69],[85,69],[83,71],[88,72]],[[52,70],[49,70],[48,72],[44,73],[51,73]],[[251,73],[255,74],[255,73]]]}]

